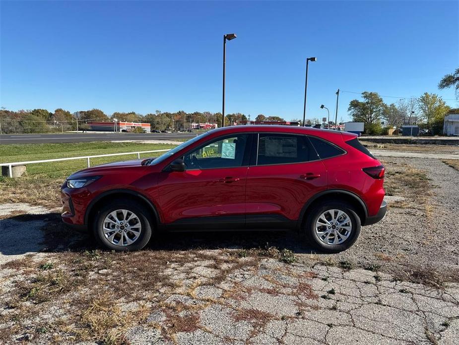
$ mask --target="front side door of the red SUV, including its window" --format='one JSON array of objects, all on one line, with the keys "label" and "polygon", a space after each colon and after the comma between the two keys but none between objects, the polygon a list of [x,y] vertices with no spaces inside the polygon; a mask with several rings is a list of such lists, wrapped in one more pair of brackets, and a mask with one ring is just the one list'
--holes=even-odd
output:
[{"label": "front side door of the red SUV, including its window", "polygon": [[184,155],[184,172],[160,173],[164,223],[177,229],[243,227],[250,139],[232,134],[210,140]]}]

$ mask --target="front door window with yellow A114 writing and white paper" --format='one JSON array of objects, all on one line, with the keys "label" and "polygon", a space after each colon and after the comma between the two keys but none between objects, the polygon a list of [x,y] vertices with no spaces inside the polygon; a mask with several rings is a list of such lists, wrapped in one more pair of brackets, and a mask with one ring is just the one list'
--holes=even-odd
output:
[{"label": "front door window with yellow A114 writing and white paper", "polygon": [[185,155],[187,169],[215,169],[241,167],[249,135],[215,140]]}]

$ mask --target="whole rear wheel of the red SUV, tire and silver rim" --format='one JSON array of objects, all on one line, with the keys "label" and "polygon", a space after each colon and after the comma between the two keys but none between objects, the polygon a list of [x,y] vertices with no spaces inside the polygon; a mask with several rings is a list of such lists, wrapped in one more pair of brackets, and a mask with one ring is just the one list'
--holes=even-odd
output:
[{"label": "whole rear wheel of the red SUV, tire and silver rim", "polygon": [[359,237],[360,227],[360,218],[351,205],[326,202],[308,212],[305,234],[318,249],[338,253],[354,244]]}]

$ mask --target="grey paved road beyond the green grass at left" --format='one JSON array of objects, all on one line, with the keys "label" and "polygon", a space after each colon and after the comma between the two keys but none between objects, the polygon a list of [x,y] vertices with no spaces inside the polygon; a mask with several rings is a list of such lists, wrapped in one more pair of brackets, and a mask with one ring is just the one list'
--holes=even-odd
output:
[{"label": "grey paved road beyond the green grass at left", "polygon": [[0,144],[80,143],[118,140],[180,140],[196,137],[196,133],[72,133],[72,134],[3,134]]}]

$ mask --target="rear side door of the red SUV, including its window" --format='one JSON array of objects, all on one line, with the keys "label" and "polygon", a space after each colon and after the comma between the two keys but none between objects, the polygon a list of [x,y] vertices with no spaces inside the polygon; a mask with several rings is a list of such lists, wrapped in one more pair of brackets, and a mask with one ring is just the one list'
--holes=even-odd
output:
[{"label": "rear side door of the red SUV, including its window", "polygon": [[327,171],[308,137],[259,133],[246,183],[247,228],[292,228],[302,207],[327,189]]}]

